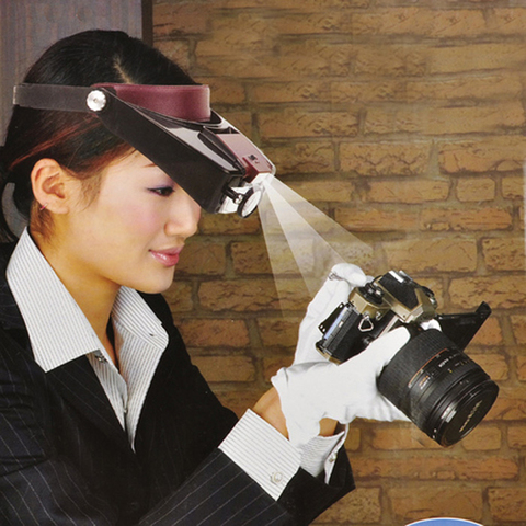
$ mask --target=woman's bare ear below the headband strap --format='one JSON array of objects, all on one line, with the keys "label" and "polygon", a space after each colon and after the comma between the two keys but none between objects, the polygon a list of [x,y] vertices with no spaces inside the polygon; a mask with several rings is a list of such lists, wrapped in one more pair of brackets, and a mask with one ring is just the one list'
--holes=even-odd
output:
[{"label": "woman's bare ear below the headband strap", "polygon": [[41,208],[67,214],[71,206],[72,178],[54,159],[38,160],[31,172],[33,195]]}]

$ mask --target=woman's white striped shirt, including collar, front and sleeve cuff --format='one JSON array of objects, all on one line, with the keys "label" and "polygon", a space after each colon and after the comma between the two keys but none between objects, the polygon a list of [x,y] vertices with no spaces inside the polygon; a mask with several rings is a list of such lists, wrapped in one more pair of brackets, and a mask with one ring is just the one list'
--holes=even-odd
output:
[{"label": "woman's white striped shirt, including collar, front and sleeve cuff", "polygon": [[[24,230],[7,278],[30,335],[36,363],[47,373],[87,356],[134,447],[137,423],[159,359],[168,345],[160,320],[140,295],[121,287],[112,310],[117,369],[84,313]],[[248,411],[219,448],[278,499],[299,467],[332,472],[345,434],[317,437],[298,451],[274,427]]]}]

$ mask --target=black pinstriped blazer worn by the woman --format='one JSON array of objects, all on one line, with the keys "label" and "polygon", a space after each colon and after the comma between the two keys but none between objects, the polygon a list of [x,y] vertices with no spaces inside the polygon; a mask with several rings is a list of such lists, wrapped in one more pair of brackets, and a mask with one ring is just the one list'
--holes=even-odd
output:
[{"label": "black pinstriped blazer worn by the woman", "polygon": [[[217,445],[236,423],[191,364],[160,295],[144,295],[170,342],[136,450],[85,356],[47,374],[5,281],[0,245],[0,524],[308,524],[354,488],[340,453],[331,485],[299,470],[276,502]],[[53,306],[50,306],[53,308]]]}]

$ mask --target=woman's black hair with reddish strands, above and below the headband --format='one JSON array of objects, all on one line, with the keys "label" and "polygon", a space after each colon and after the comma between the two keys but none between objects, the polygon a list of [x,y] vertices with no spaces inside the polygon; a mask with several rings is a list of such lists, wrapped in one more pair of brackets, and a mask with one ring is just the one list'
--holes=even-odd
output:
[{"label": "woman's black hair with reddish strands, above and below the headband", "polygon": [[[92,85],[101,82],[135,84],[195,84],[159,50],[121,31],[85,31],[50,46],[32,66],[23,82]],[[34,208],[31,171],[39,159],[55,159],[81,180],[129,150],[96,116],[84,113],[14,106],[0,148],[0,197],[14,183],[13,201],[27,220]],[[0,213],[0,238],[15,239],[5,211]]]}]

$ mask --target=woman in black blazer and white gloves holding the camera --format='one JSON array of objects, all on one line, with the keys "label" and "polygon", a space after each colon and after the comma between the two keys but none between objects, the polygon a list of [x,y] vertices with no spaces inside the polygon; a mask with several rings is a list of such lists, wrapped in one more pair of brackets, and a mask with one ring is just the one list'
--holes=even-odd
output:
[{"label": "woman in black blazer and white gloves holding the camera", "polygon": [[[24,83],[194,84],[140,41],[100,31],[52,46]],[[15,106],[0,164],[28,222],[0,253],[2,524],[307,524],[353,489],[336,421],[400,416],[375,378],[407,340],[347,371],[320,362],[317,327],[365,283],[358,268],[328,279],[295,365],[237,423],[159,294],[197,229],[188,193],[90,113]],[[14,240],[5,213],[2,233]]]}]

